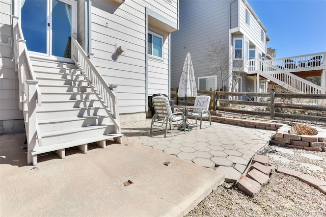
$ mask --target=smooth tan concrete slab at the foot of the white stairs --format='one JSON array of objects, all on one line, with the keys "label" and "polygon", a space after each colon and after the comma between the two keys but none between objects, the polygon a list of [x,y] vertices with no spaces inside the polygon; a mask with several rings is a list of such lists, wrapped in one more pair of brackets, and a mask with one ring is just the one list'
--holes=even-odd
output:
[{"label": "smooth tan concrete slab at the foot of the white stairs", "polygon": [[66,149],[65,159],[51,152],[28,166],[24,136],[0,138],[2,216],[183,216],[224,181],[214,170],[127,140],[89,145],[87,154]]}]

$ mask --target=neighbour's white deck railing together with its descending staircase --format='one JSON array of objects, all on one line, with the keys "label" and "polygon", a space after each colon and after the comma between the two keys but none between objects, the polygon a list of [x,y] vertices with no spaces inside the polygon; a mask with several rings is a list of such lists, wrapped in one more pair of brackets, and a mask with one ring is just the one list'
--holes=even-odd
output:
[{"label": "neighbour's white deck railing together with its descending staircase", "polygon": [[[318,64],[311,65],[301,65],[302,67],[298,67],[295,65],[295,62],[307,62],[309,63],[309,58],[313,57],[321,57],[320,62]],[[304,59],[307,59],[308,61],[303,61]],[[284,61],[287,60],[296,60],[293,61],[293,63],[287,64],[285,62],[285,66],[290,66],[289,68],[284,67]],[[325,70],[326,66],[324,64],[325,59],[325,53],[315,53],[313,55],[307,55],[307,56],[298,56],[291,57],[291,58],[283,58],[280,60],[273,60],[273,61],[264,61],[261,59],[253,59],[249,61],[249,72],[248,74],[258,74],[260,76],[265,77],[266,79],[269,79],[271,82],[293,92],[293,93],[311,93],[311,94],[323,94],[326,93],[325,87],[318,86],[316,84],[313,84],[309,82],[308,80],[301,78],[292,72],[298,72],[298,71],[311,71],[311,70]],[[282,66],[283,62],[283,66]],[[322,78],[324,79],[324,78]]]}]

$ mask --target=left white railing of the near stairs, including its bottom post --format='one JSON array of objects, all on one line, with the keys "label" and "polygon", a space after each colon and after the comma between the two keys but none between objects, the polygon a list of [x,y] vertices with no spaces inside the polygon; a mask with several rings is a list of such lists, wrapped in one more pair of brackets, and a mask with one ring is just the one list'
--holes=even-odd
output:
[{"label": "left white railing of the near stairs, including its bottom post", "polygon": [[19,109],[23,111],[24,125],[28,146],[28,164],[32,164],[31,151],[42,146],[41,131],[36,117],[36,107],[41,106],[41,91],[32,67],[31,59],[24,40],[18,17],[12,17],[13,54],[15,71],[19,80]]}]

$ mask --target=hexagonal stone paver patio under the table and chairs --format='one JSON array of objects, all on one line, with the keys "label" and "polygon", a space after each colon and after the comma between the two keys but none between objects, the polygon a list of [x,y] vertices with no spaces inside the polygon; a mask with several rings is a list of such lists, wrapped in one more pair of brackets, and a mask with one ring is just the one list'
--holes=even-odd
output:
[{"label": "hexagonal stone paver patio under the table and chairs", "polygon": [[[180,131],[168,131],[168,136],[171,137],[164,138],[163,131],[149,135],[150,124],[149,119],[122,124],[124,139],[215,169],[224,173],[226,181],[240,176],[255,152],[264,147],[271,135],[275,134],[272,130],[212,122],[210,127],[197,127],[186,133],[174,135]],[[207,122],[203,124],[208,125]],[[227,170],[227,167],[232,169]]]}]

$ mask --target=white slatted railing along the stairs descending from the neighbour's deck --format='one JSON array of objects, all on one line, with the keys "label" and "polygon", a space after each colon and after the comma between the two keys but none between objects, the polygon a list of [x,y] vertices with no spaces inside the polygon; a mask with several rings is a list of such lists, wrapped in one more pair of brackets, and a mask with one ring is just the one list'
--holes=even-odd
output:
[{"label": "white slatted railing along the stairs descending from the neighbour's deck", "polygon": [[[295,74],[292,74],[290,72],[287,72],[286,70],[278,67],[278,66],[275,66],[275,65],[272,65],[270,63],[268,63],[268,61],[264,61],[264,60],[261,60],[261,59],[253,59],[253,60],[250,60],[250,67],[249,67],[249,70],[250,72],[249,73],[255,73],[255,72],[258,72],[258,73],[266,73],[268,74],[269,76],[272,76],[274,77],[275,79],[278,79],[278,80],[286,80],[288,83],[286,82],[283,82],[283,84],[287,84],[289,86],[291,86],[292,88],[289,89],[288,87],[285,87],[286,89],[289,89],[290,91],[292,92],[302,92],[302,93],[324,93],[325,90],[316,85],[316,84],[313,84],[311,82],[309,82],[308,80],[306,79],[303,79],[299,76],[296,76]],[[275,82],[275,80],[274,80]],[[295,91],[293,91],[295,90]]]}]

